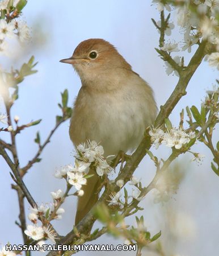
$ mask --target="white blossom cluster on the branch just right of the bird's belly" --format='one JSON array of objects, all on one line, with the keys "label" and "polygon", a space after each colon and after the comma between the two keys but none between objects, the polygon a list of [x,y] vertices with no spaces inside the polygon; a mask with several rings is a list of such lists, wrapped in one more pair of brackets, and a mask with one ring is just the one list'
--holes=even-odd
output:
[{"label": "white blossom cluster on the branch just right of the bird's belly", "polygon": [[158,148],[160,144],[164,144],[167,147],[175,147],[176,149],[179,149],[183,144],[187,144],[191,139],[195,138],[195,132],[190,131],[187,133],[182,128],[175,127],[166,132],[161,128],[152,128],[149,131],[149,135],[155,148]]}]

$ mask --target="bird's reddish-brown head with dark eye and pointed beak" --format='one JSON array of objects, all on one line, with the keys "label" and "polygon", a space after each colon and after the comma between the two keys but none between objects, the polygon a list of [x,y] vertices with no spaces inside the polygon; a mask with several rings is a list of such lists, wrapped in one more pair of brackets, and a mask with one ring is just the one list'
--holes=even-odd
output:
[{"label": "bird's reddish-brown head with dark eye and pointed beak", "polygon": [[73,65],[82,82],[110,76],[118,68],[131,69],[117,49],[103,39],[87,39],[79,43],[70,58],[60,61]]}]

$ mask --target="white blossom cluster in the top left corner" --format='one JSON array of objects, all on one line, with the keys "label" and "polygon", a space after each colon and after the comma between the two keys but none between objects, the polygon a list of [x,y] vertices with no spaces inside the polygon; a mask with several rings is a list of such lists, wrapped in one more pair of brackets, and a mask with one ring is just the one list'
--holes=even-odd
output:
[{"label": "white blossom cluster in the top left corner", "polygon": [[[7,11],[7,4],[9,0],[0,2],[0,10]],[[15,7],[18,0],[14,0],[13,6]],[[21,43],[30,40],[30,28],[27,23],[21,19],[0,19],[0,53],[7,55],[9,53],[8,43],[9,39],[18,39]]]}]

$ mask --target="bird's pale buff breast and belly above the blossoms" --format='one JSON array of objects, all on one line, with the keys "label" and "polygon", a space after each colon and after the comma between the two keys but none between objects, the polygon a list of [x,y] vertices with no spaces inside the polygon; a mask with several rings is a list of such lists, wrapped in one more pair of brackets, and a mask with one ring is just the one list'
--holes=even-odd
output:
[{"label": "bird's pale buff breast and belly above the blossoms", "polygon": [[148,102],[133,90],[92,94],[82,89],[70,121],[70,138],[75,146],[87,139],[99,142],[105,155],[127,152],[140,143],[148,116]]}]

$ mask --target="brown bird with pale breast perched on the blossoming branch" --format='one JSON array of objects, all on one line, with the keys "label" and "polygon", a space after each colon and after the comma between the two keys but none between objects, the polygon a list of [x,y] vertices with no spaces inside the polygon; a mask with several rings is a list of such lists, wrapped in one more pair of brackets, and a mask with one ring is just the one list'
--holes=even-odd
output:
[{"label": "brown bird with pale breast perched on the blossoming branch", "polygon": [[[60,62],[71,64],[81,79],[69,127],[74,146],[95,141],[103,146],[104,156],[137,148],[157,115],[153,89],[148,83],[104,39],[84,40],[71,57]],[[75,225],[98,201],[100,177],[94,170],[90,172],[94,176],[82,187],[84,194],[78,198]]]}]

